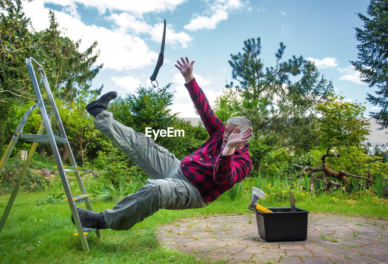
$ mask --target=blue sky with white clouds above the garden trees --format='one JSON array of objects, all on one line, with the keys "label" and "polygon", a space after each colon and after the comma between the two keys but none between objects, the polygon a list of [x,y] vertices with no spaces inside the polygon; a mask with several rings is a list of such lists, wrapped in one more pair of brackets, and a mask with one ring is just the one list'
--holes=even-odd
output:
[{"label": "blue sky with white clouds above the garden trees", "polygon": [[[64,34],[82,39],[80,50],[97,40],[99,63],[104,69],[94,79],[102,93],[122,96],[151,86],[160,50],[163,19],[167,22],[165,60],[158,74],[160,86],[169,82],[175,91],[173,112],[195,117],[176,60],[195,60],[194,75],[211,103],[232,81],[230,53],[242,51],[248,38],[262,39],[266,66],[275,63],[279,42],[287,46],[284,60],[293,55],[314,60],[331,79],[336,93],[347,101],[366,102],[373,89],[360,81],[350,60],[357,60],[359,44],[353,27],[362,27],[355,13],[366,14],[369,0],[353,1],[246,1],[246,0],[34,0],[23,2],[24,12],[36,30],[49,26],[49,9],[55,11]],[[64,30],[66,29],[66,30]],[[39,60],[39,58],[36,58]],[[367,112],[379,108],[365,103]],[[373,131],[386,143],[387,135]],[[377,133],[377,134],[376,134]],[[371,140],[374,141],[374,140]]]}]

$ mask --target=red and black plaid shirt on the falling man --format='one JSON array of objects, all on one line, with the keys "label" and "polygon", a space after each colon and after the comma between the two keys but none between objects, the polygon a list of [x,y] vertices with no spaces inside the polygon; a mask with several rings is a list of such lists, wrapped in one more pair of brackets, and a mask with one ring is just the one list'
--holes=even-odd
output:
[{"label": "red and black plaid shirt on the falling man", "polygon": [[182,159],[180,168],[202,197],[213,202],[237,182],[244,180],[251,171],[249,145],[230,156],[221,156],[225,124],[211,110],[208,99],[195,79],[185,86],[210,138],[194,153]]}]

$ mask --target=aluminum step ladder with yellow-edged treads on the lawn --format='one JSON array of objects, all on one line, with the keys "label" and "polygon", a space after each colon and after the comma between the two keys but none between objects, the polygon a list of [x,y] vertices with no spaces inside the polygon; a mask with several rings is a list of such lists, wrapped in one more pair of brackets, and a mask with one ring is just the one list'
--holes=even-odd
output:
[{"label": "aluminum step ladder with yellow-edged treads on the lawn", "polygon": [[[33,144],[31,146],[31,149],[28,153],[28,156],[26,158],[24,166],[21,170],[20,176],[16,182],[14,190],[12,191],[11,197],[8,201],[7,206],[5,207],[5,211],[4,211],[2,218],[0,220],[0,234],[1,234],[1,231],[4,227],[5,221],[7,220],[7,217],[11,211],[12,205],[14,204],[14,201],[15,201],[15,198],[17,195],[17,191],[19,190],[19,187],[20,187],[21,183],[23,182],[24,175],[26,174],[27,168],[31,162],[31,159],[32,159],[33,154],[36,150],[36,147],[38,146],[38,143],[49,143],[51,146],[52,152],[54,153],[55,163],[57,164],[54,167],[57,168],[57,170],[59,171],[59,175],[60,175],[61,180],[62,180],[62,185],[63,185],[64,191],[66,194],[66,199],[64,199],[64,200],[68,201],[68,203],[69,203],[70,211],[71,211],[71,214],[73,215],[74,222],[75,222],[75,225],[76,225],[76,228],[78,231],[77,233],[74,233],[74,235],[77,235],[80,238],[83,249],[89,250],[88,242],[87,242],[86,238],[88,236],[92,235],[92,233],[96,233],[97,237],[100,238],[101,233],[100,233],[100,230],[96,230],[96,229],[92,229],[92,228],[82,228],[80,218],[78,217],[78,214],[77,214],[76,204],[85,203],[86,208],[88,210],[92,210],[92,207],[90,206],[90,201],[89,201],[90,195],[88,195],[86,193],[85,187],[83,186],[83,183],[81,180],[81,175],[80,175],[80,172],[78,171],[80,168],[77,167],[77,165],[76,165],[76,162],[75,162],[75,159],[73,156],[73,152],[71,151],[68,138],[67,138],[65,130],[63,128],[61,117],[59,117],[58,109],[57,109],[57,106],[55,105],[54,97],[52,95],[52,92],[51,92],[51,89],[49,86],[49,82],[47,81],[47,77],[46,77],[46,74],[43,70],[43,67],[36,60],[34,60],[34,58],[32,58],[32,57],[27,58],[26,63],[27,63],[29,75],[31,77],[32,86],[33,86],[34,91],[35,91],[36,99],[38,99],[38,103],[31,106],[31,108],[29,108],[26,111],[26,113],[23,115],[19,125],[17,126],[15,134],[12,136],[12,139],[9,142],[9,145],[8,145],[7,149],[5,150],[3,158],[0,161],[0,173],[2,172],[2,170],[5,166],[5,163],[7,162],[7,159],[9,158],[9,156],[12,152],[12,149],[14,148],[18,139],[31,141],[31,142],[33,142]],[[46,93],[47,93],[47,96],[49,99],[50,108],[53,111],[52,113],[50,113],[50,115],[47,115],[47,110],[46,110],[45,103],[43,102],[42,93],[40,92],[39,83],[38,83],[38,80],[36,79],[34,66],[36,67],[36,69],[40,73],[41,82],[43,82],[43,85],[45,87],[45,90],[46,90]],[[42,85],[42,83],[41,83],[41,85]],[[47,104],[47,106],[49,106],[49,104]],[[33,110],[35,110],[35,108],[39,108],[40,113],[42,114],[42,123],[38,129],[37,134],[21,134],[23,131],[24,125],[26,124],[26,122],[28,120],[29,115],[32,113]],[[52,118],[52,117],[55,117],[55,122],[57,124],[59,133],[61,135],[60,137],[53,134],[52,127],[50,124],[50,118]],[[47,132],[46,135],[43,134],[44,129],[46,129],[46,132]],[[58,151],[57,144],[64,144],[66,151],[68,153],[68,158],[69,158],[71,166],[65,166],[62,164],[62,160],[61,160],[61,156],[60,156],[59,151]],[[73,196],[71,194],[69,182],[68,182],[68,179],[66,177],[66,172],[74,173],[75,178],[76,178],[77,183],[78,183],[78,187],[80,188],[80,192],[81,192],[80,195]]]}]

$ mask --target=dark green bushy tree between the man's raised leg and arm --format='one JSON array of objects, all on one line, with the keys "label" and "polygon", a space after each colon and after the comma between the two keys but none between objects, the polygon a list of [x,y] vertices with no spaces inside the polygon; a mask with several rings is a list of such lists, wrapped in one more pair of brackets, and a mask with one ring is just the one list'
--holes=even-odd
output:
[{"label": "dark green bushy tree between the man's raised leg and arm", "polygon": [[157,144],[182,159],[197,149],[208,138],[208,134],[203,128],[193,127],[191,122],[177,118],[177,113],[171,113],[169,106],[172,104],[173,93],[169,91],[170,85],[156,90],[139,87],[137,96],[127,94],[125,98],[119,97],[109,103],[108,110],[112,111],[116,120],[137,132],[145,133],[145,127],[154,130],[167,130],[168,127],[183,129],[184,137],[158,136],[156,139]]}]

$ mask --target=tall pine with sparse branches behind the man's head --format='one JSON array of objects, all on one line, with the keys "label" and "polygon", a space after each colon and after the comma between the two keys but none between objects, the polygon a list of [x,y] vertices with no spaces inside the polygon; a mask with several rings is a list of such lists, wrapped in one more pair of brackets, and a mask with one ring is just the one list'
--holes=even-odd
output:
[{"label": "tall pine with sparse branches behind the man's head", "polygon": [[281,42],[275,66],[266,68],[260,58],[259,37],[244,41],[243,53],[230,55],[232,79],[239,85],[230,82],[226,87],[242,98],[238,115],[251,120],[255,138],[265,139],[267,145],[260,147],[256,168],[260,168],[260,160],[268,151],[311,141],[314,106],[333,92],[331,81],[320,77],[313,62],[302,56],[282,62],[285,49]]}]

